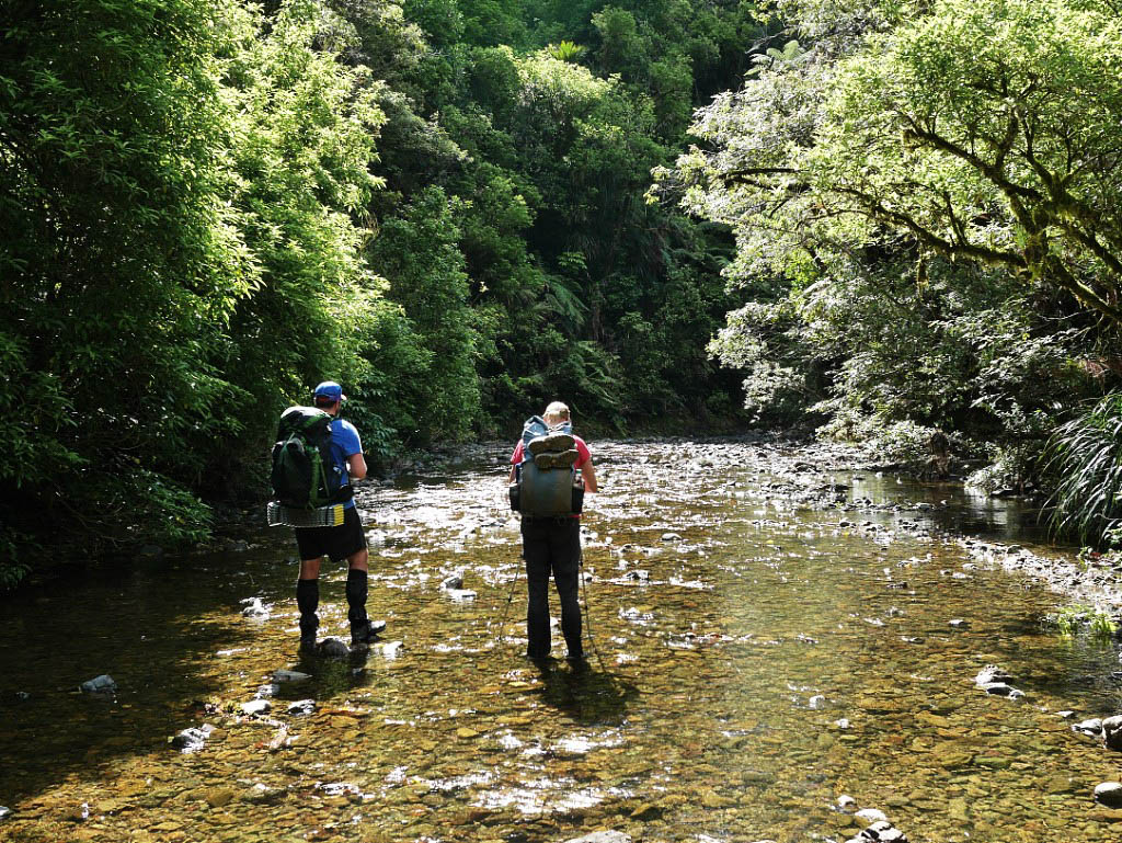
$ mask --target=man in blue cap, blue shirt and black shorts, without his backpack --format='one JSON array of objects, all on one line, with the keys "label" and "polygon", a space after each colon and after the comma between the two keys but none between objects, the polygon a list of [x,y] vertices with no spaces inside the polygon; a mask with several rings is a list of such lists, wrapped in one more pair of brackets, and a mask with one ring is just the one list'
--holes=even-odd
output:
[{"label": "man in blue cap, blue shirt and black shorts, without his backpack", "polygon": [[[350,480],[366,477],[366,458],[358,430],[349,421],[339,419],[342,402],[347,401],[342,387],[334,381],[324,381],[315,387],[315,407],[333,416],[331,430],[331,466],[338,487],[350,486]],[[320,565],[323,557],[333,562],[347,560],[347,618],[350,621],[351,644],[368,644],[385,629],[385,621],[371,621],[366,614],[369,553],[366,532],[353,498],[343,504],[343,523],[338,526],[297,526],[296,544],[300,548],[300,579],[296,580],[296,605],[300,607],[301,649],[315,648],[315,632],[320,617]]]}]

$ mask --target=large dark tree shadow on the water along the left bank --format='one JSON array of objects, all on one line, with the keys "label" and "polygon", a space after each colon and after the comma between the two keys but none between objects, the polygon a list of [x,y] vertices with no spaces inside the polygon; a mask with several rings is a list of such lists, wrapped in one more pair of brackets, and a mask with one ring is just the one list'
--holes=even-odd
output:
[{"label": "large dark tree shadow on the water along the left bank", "polygon": [[[223,570],[231,562],[74,569],[0,603],[4,799],[98,778],[121,758],[166,750],[168,736],[197,723],[222,685],[204,666],[255,634],[237,623],[238,592]],[[102,674],[114,695],[79,690]]]}]

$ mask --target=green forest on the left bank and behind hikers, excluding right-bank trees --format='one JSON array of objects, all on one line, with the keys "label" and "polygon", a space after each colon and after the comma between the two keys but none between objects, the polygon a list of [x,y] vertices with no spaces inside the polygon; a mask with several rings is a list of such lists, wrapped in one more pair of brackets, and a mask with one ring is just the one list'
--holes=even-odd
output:
[{"label": "green forest on the left bank and behind hikers, excluding right-bank trees", "polygon": [[329,377],[376,461],[557,396],[619,432],[738,412],[705,348],[732,239],[645,193],[752,6],[6,9],[0,557],[203,537]]}]

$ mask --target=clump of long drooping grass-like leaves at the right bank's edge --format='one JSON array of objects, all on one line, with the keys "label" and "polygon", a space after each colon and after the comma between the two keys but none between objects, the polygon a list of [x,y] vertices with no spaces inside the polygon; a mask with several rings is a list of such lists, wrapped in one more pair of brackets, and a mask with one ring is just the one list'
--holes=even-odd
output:
[{"label": "clump of long drooping grass-like leaves at the right bank's edge", "polygon": [[1052,529],[1087,543],[1110,541],[1122,524],[1122,393],[1059,427],[1045,459],[1058,478]]}]

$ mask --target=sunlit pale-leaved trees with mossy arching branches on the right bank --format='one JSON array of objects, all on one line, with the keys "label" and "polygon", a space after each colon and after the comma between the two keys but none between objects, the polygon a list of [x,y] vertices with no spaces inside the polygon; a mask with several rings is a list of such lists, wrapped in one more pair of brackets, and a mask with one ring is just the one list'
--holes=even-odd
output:
[{"label": "sunlit pale-leaved trees with mossy arching branches on the right bank", "polygon": [[711,349],[763,420],[1122,515],[1122,6],[781,0],[668,199],[736,236]]}]

